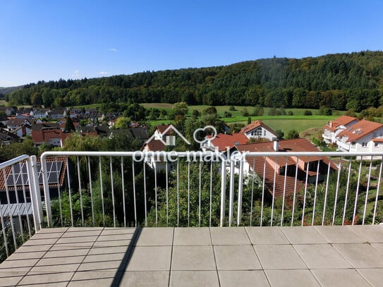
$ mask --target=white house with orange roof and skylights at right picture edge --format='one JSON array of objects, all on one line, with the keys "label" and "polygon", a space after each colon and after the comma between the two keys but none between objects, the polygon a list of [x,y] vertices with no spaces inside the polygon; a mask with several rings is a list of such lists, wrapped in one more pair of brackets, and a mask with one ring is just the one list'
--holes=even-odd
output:
[{"label": "white house with orange roof and skylights at right picture edge", "polygon": [[383,125],[358,121],[337,135],[336,145],[344,152],[383,152]]}]

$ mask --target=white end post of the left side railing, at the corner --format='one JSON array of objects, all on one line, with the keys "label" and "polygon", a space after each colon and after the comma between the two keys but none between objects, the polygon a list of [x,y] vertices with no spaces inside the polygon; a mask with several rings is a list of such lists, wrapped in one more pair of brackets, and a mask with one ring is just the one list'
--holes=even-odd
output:
[{"label": "white end post of the left side railing, at the corner", "polygon": [[42,213],[39,174],[37,173],[37,160],[35,155],[32,155],[28,159],[27,166],[28,182],[30,185],[30,200],[32,202],[33,221],[35,224],[35,231],[37,232],[42,228],[44,214]]}]

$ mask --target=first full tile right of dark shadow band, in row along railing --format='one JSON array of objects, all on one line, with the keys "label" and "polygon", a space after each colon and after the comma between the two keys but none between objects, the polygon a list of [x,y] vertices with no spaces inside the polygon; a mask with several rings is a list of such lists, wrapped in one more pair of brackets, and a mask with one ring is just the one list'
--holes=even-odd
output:
[{"label": "first full tile right of dark shadow band, in row along railing", "polygon": [[137,246],[173,245],[174,228],[142,228],[135,243]]}]

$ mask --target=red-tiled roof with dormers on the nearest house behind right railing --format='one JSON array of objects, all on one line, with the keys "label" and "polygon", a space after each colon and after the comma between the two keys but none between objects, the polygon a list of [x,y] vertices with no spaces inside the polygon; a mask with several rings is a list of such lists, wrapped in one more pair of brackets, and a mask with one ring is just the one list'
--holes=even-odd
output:
[{"label": "red-tiled roof with dormers on the nearest house behind right railing", "polygon": [[[274,151],[274,142],[259,142],[252,143],[247,145],[238,145],[237,149],[240,152],[273,152]],[[278,152],[319,152],[315,145],[304,138],[294,139],[294,140],[281,140],[279,141],[279,151]],[[250,168],[257,173],[260,178],[263,178],[265,171],[265,185],[269,190],[269,193],[278,197],[283,195],[284,190],[286,195],[300,190],[305,184],[306,172],[305,163],[319,161],[320,166],[328,166],[329,159],[327,157],[246,157],[246,161],[250,165]],[[297,175],[297,187],[296,187],[296,166],[298,161],[298,175]],[[293,174],[288,174],[285,177],[284,171],[279,174],[279,169],[284,168],[284,166],[293,166]],[[334,164],[331,165],[332,169],[336,169]],[[322,170],[327,173],[327,168]],[[309,171],[309,176],[316,176],[317,169],[315,171]],[[275,181],[274,181],[275,178]],[[286,189],[285,189],[286,185]]]}]

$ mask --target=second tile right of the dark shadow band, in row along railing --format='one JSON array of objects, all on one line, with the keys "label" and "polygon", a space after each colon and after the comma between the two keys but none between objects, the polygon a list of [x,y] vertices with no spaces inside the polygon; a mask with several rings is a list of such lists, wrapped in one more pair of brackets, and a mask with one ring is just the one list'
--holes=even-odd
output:
[{"label": "second tile right of the dark shadow band, in row along railing", "polygon": [[174,245],[212,245],[210,230],[202,228],[174,228]]}]

